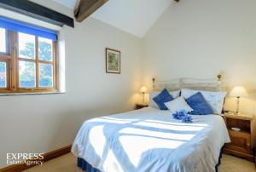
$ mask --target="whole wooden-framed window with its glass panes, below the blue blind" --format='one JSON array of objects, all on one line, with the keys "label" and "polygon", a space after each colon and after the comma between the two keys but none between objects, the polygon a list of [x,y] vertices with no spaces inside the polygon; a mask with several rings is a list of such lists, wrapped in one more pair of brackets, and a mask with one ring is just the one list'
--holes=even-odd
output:
[{"label": "whole wooden-framed window with its glass panes, below the blue blind", "polygon": [[0,18],[0,93],[57,90],[56,39],[32,33],[1,27]]}]

